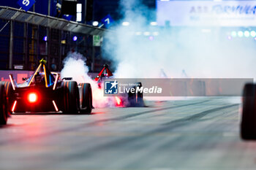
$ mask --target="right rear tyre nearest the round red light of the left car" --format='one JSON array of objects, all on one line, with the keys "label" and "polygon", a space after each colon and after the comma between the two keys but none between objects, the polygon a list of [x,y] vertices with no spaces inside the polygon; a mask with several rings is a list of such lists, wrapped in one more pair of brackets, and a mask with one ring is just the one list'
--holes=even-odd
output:
[{"label": "right rear tyre nearest the round red light of the left car", "polygon": [[64,93],[62,112],[77,114],[79,111],[78,83],[75,81],[62,82],[62,87]]}]

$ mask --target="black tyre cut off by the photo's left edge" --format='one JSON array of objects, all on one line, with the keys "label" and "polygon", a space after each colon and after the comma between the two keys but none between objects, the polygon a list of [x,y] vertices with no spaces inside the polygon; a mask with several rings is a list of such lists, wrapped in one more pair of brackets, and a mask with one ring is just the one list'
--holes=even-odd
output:
[{"label": "black tyre cut off by the photo's left edge", "polygon": [[6,125],[8,119],[7,95],[3,84],[0,84],[0,125]]}]

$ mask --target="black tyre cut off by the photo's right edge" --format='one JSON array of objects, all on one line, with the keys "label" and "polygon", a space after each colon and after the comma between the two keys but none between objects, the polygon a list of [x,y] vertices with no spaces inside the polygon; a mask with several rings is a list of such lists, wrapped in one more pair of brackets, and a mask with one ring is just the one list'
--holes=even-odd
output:
[{"label": "black tyre cut off by the photo's right edge", "polygon": [[256,85],[249,83],[244,86],[243,111],[241,115],[241,138],[256,139]]}]

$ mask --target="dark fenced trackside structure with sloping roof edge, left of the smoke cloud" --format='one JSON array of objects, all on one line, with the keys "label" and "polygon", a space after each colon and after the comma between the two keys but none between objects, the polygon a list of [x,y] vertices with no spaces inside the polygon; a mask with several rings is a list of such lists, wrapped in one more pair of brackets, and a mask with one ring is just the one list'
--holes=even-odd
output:
[{"label": "dark fenced trackside structure with sloping roof edge, left of the smoke cloud", "polygon": [[85,56],[92,72],[105,63],[100,47],[93,46],[93,36],[103,36],[104,28],[0,6],[1,28],[0,70],[34,70],[45,58],[48,68],[58,72],[70,51]]}]

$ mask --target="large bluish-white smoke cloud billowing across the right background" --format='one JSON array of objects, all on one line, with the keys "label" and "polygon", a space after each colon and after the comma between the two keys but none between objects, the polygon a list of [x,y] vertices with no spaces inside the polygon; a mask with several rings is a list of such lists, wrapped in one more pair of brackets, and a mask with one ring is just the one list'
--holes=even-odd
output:
[{"label": "large bluish-white smoke cloud billowing across the right background", "polygon": [[[120,8],[124,18],[102,46],[104,56],[116,64],[116,77],[256,77],[255,39],[229,40],[220,27],[151,26],[154,11],[138,0],[121,0]],[[122,26],[124,21],[129,26]]]}]

